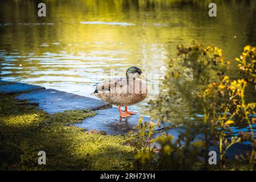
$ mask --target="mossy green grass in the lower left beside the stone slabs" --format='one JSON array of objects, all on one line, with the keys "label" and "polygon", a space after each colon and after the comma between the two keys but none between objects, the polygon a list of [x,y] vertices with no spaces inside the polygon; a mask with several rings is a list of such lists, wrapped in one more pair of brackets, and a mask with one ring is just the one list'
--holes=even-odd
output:
[{"label": "mossy green grass in the lower left beside the stone slabs", "polygon": [[[0,94],[0,170],[132,169],[128,136],[89,133],[71,125],[93,115],[89,110],[49,115]],[[46,152],[46,165],[38,164],[39,151]]]}]

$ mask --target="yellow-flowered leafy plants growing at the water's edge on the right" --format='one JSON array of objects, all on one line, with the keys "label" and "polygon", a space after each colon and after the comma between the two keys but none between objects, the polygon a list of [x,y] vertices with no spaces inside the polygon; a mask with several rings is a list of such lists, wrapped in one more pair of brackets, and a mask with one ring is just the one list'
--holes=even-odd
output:
[{"label": "yellow-flowered leafy plants growing at the water's edge on the right", "polygon": [[[177,151],[182,152],[184,148],[189,148],[189,152],[204,158],[204,169],[208,169],[209,146],[217,144],[220,152],[219,167],[226,169],[228,149],[233,144],[246,140],[253,146],[253,150],[248,155],[249,168],[253,169],[255,134],[251,124],[255,122],[255,118],[249,115],[255,115],[255,100],[247,102],[245,98],[247,82],[255,86],[255,48],[246,46],[240,59],[236,59],[240,62],[238,68],[242,72],[241,78],[237,80],[230,80],[227,75],[230,61],[225,61],[220,48],[210,46],[203,48],[201,44],[193,42],[190,46],[177,46],[177,51],[177,59],[170,60],[164,80],[163,90],[167,92],[162,92],[158,100],[151,104],[159,111],[161,121],[182,123],[185,131],[180,137],[188,137],[184,139],[185,145],[180,146],[179,139],[171,142],[168,134],[163,136],[158,140],[162,141],[161,151],[165,153],[164,148],[167,147],[163,141],[172,143],[169,144],[171,151],[180,147]],[[186,111],[180,112],[181,110]],[[202,117],[195,119],[196,113],[200,110],[203,111]],[[232,136],[232,126],[245,122],[249,126],[249,131],[240,133],[239,136]],[[199,142],[204,148],[203,153],[196,152],[196,148],[191,147],[193,138],[198,133],[204,133],[204,139]],[[169,163],[169,168],[172,168],[172,165],[177,166],[176,160],[171,160],[173,162]],[[180,158],[180,163],[182,160],[183,158]]]}]

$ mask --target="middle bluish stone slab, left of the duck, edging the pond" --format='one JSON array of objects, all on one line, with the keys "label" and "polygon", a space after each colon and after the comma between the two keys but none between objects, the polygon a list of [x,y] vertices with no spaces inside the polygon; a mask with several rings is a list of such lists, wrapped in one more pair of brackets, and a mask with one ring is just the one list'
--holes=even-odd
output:
[{"label": "middle bluish stone slab, left of the duck, edging the pond", "polygon": [[111,106],[94,98],[79,96],[77,94],[62,92],[55,89],[36,90],[30,93],[20,94],[15,97],[17,100],[28,100],[31,103],[38,103],[39,109],[49,114],[74,109],[105,109]]}]

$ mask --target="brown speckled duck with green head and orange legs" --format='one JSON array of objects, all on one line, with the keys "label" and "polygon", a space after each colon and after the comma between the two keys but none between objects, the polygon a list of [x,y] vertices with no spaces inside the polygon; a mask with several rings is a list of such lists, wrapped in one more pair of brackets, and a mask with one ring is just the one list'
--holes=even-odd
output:
[{"label": "brown speckled duck with green head and orange legs", "polygon": [[[127,106],[138,104],[146,98],[147,78],[142,75],[140,68],[130,67],[125,78],[111,78],[97,84],[92,95],[108,104],[117,105],[120,117],[127,118],[135,114],[128,111]],[[125,106],[124,113],[121,106]]]}]

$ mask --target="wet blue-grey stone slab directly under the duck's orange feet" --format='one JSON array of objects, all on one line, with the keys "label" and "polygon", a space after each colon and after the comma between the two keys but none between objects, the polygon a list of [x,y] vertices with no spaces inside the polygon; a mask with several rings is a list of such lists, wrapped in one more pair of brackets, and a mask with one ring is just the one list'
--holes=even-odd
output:
[{"label": "wet blue-grey stone slab directly under the duck's orange feet", "polygon": [[[84,119],[84,121],[82,121],[82,123],[75,123],[74,126],[88,129],[88,131],[105,131],[106,134],[111,135],[127,134],[130,130],[137,131],[135,130],[135,127],[138,124],[139,118],[141,118],[141,115],[139,114],[131,115],[131,117],[128,118],[120,118],[117,107],[97,110],[96,113],[96,116],[86,118]],[[143,117],[143,121],[151,121],[151,118]],[[170,126],[170,124],[161,126],[161,128],[168,126]],[[161,128],[158,127],[156,128],[156,130],[159,130]]]}]

